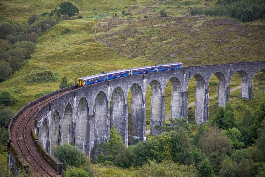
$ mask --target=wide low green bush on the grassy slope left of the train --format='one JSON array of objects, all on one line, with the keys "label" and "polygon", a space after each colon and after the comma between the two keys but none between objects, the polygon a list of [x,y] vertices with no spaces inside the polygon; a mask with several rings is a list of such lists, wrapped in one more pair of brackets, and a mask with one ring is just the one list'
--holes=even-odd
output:
[{"label": "wide low green bush on the grassy slope left of the train", "polygon": [[26,76],[27,83],[48,83],[57,81],[60,74],[45,70]]}]

